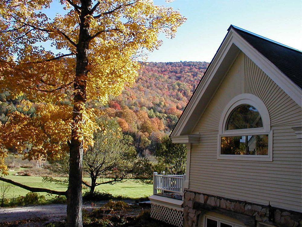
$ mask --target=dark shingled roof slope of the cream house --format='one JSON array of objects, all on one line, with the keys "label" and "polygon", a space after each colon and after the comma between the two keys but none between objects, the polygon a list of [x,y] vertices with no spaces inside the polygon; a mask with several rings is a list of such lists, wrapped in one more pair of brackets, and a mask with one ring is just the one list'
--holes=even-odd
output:
[{"label": "dark shingled roof slope of the cream house", "polygon": [[[231,25],[249,44],[302,88],[302,51]],[[229,29],[230,29],[229,28]],[[228,31],[229,31],[228,29]]]}]

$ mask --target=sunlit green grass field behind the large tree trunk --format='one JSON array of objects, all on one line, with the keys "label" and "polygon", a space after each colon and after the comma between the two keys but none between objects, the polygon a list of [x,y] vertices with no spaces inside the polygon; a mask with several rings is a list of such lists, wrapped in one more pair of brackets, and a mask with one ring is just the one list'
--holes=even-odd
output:
[{"label": "sunlit green grass field behind the large tree trunk", "polygon": [[[14,176],[13,175],[14,173],[15,172],[10,171],[9,175],[5,176],[5,178],[11,179],[13,181],[31,187],[48,188],[56,191],[66,191],[67,189],[67,185],[57,185],[55,183],[43,183],[42,182],[43,177],[40,176]],[[88,179],[85,180],[88,181]],[[2,184],[6,184],[6,183],[0,182],[0,186]],[[110,185],[110,184],[99,185],[98,187],[96,187],[96,190],[106,191],[114,196],[125,196],[135,199],[135,198],[150,196],[153,190],[152,187],[153,187],[152,185],[137,183],[134,180],[130,179],[127,180],[126,182],[116,183],[114,185]],[[10,199],[13,197],[24,196],[27,192],[29,191],[12,185],[5,197]],[[47,193],[40,193],[40,194],[45,195],[46,198],[50,198],[50,195],[47,195]]]}]

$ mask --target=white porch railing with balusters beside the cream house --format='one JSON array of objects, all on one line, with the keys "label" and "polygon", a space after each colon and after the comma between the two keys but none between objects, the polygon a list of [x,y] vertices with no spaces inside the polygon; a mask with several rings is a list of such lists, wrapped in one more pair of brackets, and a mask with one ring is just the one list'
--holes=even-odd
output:
[{"label": "white porch railing with balusters beside the cream house", "polygon": [[175,192],[184,195],[185,175],[160,175],[153,173],[153,195],[163,192]]}]

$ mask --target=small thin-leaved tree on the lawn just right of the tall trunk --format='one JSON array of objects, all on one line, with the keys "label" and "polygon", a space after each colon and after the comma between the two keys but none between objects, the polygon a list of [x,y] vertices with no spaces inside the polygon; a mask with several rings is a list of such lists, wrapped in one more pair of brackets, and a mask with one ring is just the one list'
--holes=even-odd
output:
[{"label": "small thin-leaved tree on the lawn just right of the tall trunk", "polygon": [[83,184],[90,188],[90,193],[98,185],[123,181],[132,172],[137,158],[135,148],[130,145],[133,138],[123,135],[114,120],[105,121],[94,140],[94,146],[83,156],[83,173],[91,179],[91,184],[85,181]]}]

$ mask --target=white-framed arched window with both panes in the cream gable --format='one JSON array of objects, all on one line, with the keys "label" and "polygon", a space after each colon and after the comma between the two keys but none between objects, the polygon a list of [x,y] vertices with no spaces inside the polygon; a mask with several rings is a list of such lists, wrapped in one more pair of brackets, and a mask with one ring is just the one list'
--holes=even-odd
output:
[{"label": "white-framed arched window with both panes in the cream gable", "polygon": [[241,94],[233,98],[219,127],[219,159],[272,161],[269,114],[258,97]]}]

